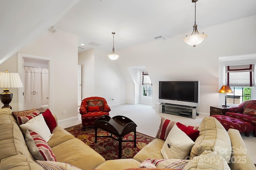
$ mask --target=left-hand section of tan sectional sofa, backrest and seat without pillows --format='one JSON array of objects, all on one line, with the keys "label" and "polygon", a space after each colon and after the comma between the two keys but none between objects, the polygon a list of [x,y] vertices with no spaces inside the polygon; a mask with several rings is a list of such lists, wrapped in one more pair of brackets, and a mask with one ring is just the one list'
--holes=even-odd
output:
[{"label": "left-hand section of tan sectional sofa, backrest and seat without pillows", "polygon": [[[105,159],[73,135],[57,126],[48,141],[58,162],[92,170]],[[10,109],[0,109],[0,170],[44,170],[36,163]]]}]

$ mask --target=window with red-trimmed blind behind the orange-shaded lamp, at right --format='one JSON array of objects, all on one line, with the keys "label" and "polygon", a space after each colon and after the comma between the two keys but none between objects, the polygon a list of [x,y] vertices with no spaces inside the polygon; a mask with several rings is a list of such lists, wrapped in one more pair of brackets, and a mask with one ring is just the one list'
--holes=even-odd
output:
[{"label": "window with red-trimmed blind behind the orange-shaded lamp, at right", "polygon": [[228,104],[240,104],[252,99],[254,86],[254,64],[226,66],[226,84],[233,94],[227,95]]}]

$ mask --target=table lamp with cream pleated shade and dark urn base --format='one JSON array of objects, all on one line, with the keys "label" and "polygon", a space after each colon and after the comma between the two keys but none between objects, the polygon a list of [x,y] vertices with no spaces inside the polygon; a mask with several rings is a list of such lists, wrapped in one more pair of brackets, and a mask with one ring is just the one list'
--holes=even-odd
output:
[{"label": "table lamp with cream pleated shade and dark urn base", "polygon": [[2,108],[10,108],[10,102],[12,101],[12,93],[8,88],[22,88],[22,82],[17,72],[0,72],[0,88],[4,88],[4,92],[0,94],[0,100],[4,104]]}]

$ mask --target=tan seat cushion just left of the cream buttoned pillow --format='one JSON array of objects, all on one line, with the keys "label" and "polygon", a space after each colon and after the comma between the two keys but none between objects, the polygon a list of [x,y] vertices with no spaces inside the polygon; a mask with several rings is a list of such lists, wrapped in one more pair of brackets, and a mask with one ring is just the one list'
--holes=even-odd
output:
[{"label": "tan seat cushion just left of the cream buttoned pillow", "polygon": [[164,140],[156,138],[140,150],[133,158],[138,162],[143,162],[148,158],[164,159],[161,150]]}]

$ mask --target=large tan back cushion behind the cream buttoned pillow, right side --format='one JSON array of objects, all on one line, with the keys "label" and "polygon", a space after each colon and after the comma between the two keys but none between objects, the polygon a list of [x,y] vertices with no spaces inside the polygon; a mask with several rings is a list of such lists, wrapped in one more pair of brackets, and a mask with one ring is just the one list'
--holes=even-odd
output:
[{"label": "large tan back cushion behind the cream buttoned pillow, right side", "polygon": [[204,150],[216,151],[229,162],[231,142],[227,131],[214,117],[204,117],[198,128],[200,134],[190,152],[190,159],[198,156]]}]

